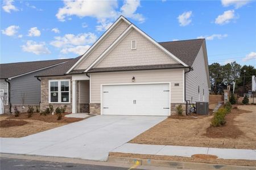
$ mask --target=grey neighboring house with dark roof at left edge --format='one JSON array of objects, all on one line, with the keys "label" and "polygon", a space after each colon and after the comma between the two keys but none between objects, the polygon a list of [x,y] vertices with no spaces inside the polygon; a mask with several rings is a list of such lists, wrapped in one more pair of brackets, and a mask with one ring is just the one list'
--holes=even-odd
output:
[{"label": "grey neighboring house with dark roof at left edge", "polygon": [[40,104],[40,80],[35,78],[42,71],[63,64],[69,59],[4,63],[0,65],[0,114],[27,111],[27,106]]}]

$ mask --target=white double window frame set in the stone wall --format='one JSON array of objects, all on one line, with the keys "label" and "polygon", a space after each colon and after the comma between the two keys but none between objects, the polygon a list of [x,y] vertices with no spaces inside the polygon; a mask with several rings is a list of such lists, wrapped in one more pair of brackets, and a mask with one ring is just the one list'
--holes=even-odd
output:
[{"label": "white double window frame set in the stone wall", "polygon": [[[51,82],[58,82],[58,102],[51,102]],[[61,82],[68,82],[69,88],[68,88],[68,102],[61,102]],[[71,80],[70,79],[61,79],[61,80],[49,80],[48,85],[48,101],[52,104],[69,104],[71,103]]]}]

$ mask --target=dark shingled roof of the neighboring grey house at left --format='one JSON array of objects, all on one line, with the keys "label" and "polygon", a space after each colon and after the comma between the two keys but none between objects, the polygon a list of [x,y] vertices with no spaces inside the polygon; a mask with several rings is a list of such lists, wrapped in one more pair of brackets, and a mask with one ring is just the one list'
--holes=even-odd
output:
[{"label": "dark shingled roof of the neighboring grey house at left", "polygon": [[69,59],[3,63],[0,65],[0,79],[11,79],[67,62]]}]

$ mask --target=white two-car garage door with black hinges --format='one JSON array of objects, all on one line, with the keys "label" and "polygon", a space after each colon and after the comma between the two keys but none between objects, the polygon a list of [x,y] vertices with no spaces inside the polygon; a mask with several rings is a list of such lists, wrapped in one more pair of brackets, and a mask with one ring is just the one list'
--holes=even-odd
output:
[{"label": "white two-car garage door with black hinges", "polygon": [[102,86],[102,114],[168,116],[170,85]]}]

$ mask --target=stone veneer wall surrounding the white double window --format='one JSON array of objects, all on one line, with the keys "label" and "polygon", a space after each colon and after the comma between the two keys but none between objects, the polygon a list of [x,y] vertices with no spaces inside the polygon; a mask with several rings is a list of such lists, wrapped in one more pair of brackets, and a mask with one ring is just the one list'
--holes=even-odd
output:
[{"label": "stone veneer wall surrounding the white double window", "polygon": [[[57,76],[57,77],[47,77],[41,78],[41,104],[40,104],[40,111],[44,111],[46,108],[49,108],[49,80],[60,80],[60,79],[70,79],[71,76]],[[70,103],[67,104],[52,104],[53,108],[56,109],[57,107],[64,107],[67,105],[66,112],[72,112],[72,81],[70,83],[70,91],[71,91],[71,99]]]}]

